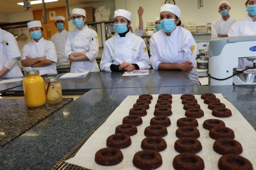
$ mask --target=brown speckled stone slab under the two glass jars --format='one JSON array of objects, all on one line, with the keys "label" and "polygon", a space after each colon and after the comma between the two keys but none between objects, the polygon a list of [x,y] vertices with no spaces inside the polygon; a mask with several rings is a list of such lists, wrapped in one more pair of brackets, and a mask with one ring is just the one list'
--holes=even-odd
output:
[{"label": "brown speckled stone slab under the two glass jars", "polygon": [[58,104],[46,103],[41,107],[28,108],[24,99],[1,99],[0,148],[72,101],[73,98],[63,98]]}]

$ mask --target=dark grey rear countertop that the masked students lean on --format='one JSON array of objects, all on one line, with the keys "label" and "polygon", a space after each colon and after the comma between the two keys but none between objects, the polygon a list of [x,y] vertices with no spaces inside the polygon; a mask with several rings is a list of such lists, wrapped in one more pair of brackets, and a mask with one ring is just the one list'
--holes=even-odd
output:
[{"label": "dark grey rear countertop that the masked students lean on", "polygon": [[[149,70],[148,75],[122,76],[122,72],[90,72],[85,78],[60,80],[62,92],[87,92],[91,89],[194,86],[184,71]],[[18,87],[8,91],[23,93]]]}]

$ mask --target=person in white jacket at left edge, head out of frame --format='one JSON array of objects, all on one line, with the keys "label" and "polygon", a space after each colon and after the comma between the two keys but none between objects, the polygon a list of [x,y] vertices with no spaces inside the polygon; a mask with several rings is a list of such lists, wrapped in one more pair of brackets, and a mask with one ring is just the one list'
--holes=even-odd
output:
[{"label": "person in white jacket at left edge, head out of frame", "polygon": [[20,50],[14,36],[0,28],[0,77],[20,77],[23,74],[17,65]]}]

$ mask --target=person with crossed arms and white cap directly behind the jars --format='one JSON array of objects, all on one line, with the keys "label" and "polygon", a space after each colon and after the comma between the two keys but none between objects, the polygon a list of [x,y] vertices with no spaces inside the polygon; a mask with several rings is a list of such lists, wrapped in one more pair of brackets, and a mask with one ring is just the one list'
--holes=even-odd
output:
[{"label": "person with crossed arms and white cap directly behind the jars", "polygon": [[55,66],[57,63],[56,49],[52,41],[44,39],[41,22],[30,21],[27,25],[33,40],[23,47],[21,54],[22,66],[32,67],[33,70],[47,71],[49,74],[57,74]]}]

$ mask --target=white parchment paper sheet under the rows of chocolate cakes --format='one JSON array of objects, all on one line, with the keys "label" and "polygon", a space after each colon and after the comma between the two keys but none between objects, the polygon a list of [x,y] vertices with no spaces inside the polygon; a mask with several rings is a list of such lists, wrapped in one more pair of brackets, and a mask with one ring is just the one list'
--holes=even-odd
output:
[{"label": "white parchment paper sheet under the rows of chocolate cakes", "polygon": [[[212,116],[212,110],[207,108],[207,104],[204,104],[204,100],[200,98],[199,95],[195,95],[201,109],[204,110],[204,116],[198,118],[199,126],[197,129],[200,132],[200,137],[197,138],[203,149],[197,153],[204,160],[205,169],[218,169],[218,160],[222,156],[213,151],[212,146],[214,139],[209,137],[209,130],[203,128],[203,122],[206,119],[220,119],[223,120],[227,127],[231,128],[235,132],[235,140],[241,143],[243,147],[243,152],[241,156],[249,159],[254,167],[256,168],[256,132],[252,126],[246,121],[246,119],[241,115],[241,113],[228,102],[221,94],[215,94],[217,98],[220,99],[221,103],[224,103],[228,109],[232,111],[232,116],[228,118],[219,118]],[[149,104],[150,108],[147,110],[148,114],[141,117],[143,124],[137,126],[138,133],[131,136],[132,145],[127,148],[121,149],[124,159],[121,163],[115,166],[100,166],[95,163],[94,156],[95,153],[101,149],[105,148],[106,140],[108,136],[115,133],[115,128],[117,125],[122,124],[123,117],[129,115],[129,110],[132,108],[133,104],[139,96],[127,96],[124,101],[116,108],[116,110],[108,117],[106,122],[102,124],[97,131],[95,131],[92,136],[84,143],[80,150],[76,153],[75,157],[68,159],[66,162],[75,164],[78,166],[86,167],[89,169],[137,169],[132,164],[133,156],[136,152],[140,151],[140,144],[144,136],[144,129],[149,126],[150,119],[154,117],[153,113],[155,110],[155,104],[158,95],[152,95],[152,103]],[[171,125],[167,127],[168,135],[163,137],[167,143],[167,148],[159,152],[163,159],[163,164],[158,169],[174,169],[172,166],[173,158],[179,153],[174,150],[174,143],[178,139],[175,135],[175,131],[178,129],[176,122],[179,118],[185,117],[185,110],[183,110],[183,104],[181,104],[180,95],[172,95],[172,115],[169,116],[171,119]]]}]

